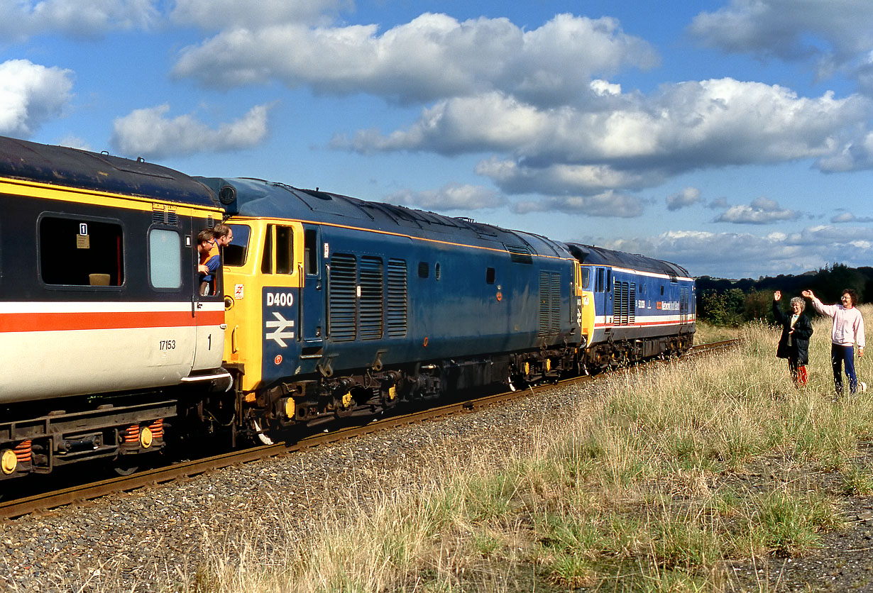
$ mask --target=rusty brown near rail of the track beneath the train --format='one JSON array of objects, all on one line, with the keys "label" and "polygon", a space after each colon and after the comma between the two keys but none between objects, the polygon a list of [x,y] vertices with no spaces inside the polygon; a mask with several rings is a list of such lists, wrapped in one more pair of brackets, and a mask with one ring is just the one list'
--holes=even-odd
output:
[{"label": "rusty brown near rail of the track beneath the train", "polygon": [[[685,356],[691,358],[701,354],[723,351],[725,349],[736,347],[737,345],[739,345],[739,339],[725,340],[712,344],[700,344],[694,346]],[[667,361],[655,360],[647,365],[663,362]],[[646,365],[641,366],[644,367]],[[638,369],[640,367],[638,366],[634,368]],[[582,383],[594,381],[598,378],[604,378],[607,376],[608,374],[598,374],[586,377],[574,377],[562,380],[560,383],[565,385],[573,382]],[[354,439],[365,434],[388,430],[395,426],[406,426],[457,413],[481,410],[489,406],[505,404],[513,399],[530,397],[531,395],[540,392],[540,390],[551,386],[552,385],[550,384],[540,385],[538,387],[531,387],[516,392],[502,392],[488,395],[483,398],[459,400],[444,406],[431,407],[420,411],[376,419],[365,425],[343,427],[328,433],[316,433],[292,443],[254,446],[199,460],[182,461],[168,467],[144,470],[129,476],[114,477],[107,480],[66,487],[60,490],[31,494],[29,496],[8,501],[0,501],[0,518],[13,519],[23,515],[44,513],[50,511],[52,508],[93,501],[100,497],[107,496],[108,494],[118,494],[141,487],[152,487],[158,484],[193,477],[198,474],[205,474],[223,467],[232,467],[256,460],[264,460],[270,457],[304,451],[306,449],[325,446],[342,440]]]}]

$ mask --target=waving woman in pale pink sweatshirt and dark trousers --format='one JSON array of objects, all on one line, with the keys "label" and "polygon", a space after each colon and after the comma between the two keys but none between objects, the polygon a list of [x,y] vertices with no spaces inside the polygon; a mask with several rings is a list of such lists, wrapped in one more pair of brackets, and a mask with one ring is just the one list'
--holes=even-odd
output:
[{"label": "waving woman in pale pink sweatshirt and dark trousers", "polygon": [[813,307],[822,315],[834,320],[830,330],[830,364],[834,367],[834,386],[836,394],[842,395],[842,364],[846,364],[846,376],[849,378],[849,392],[858,389],[858,378],[855,374],[855,344],[858,344],[858,358],[864,355],[864,319],[857,310],[858,297],[855,290],[842,291],[842,304],[821,304],[815,298],[812,290],[804,290],[801,295],[812,300]]}]

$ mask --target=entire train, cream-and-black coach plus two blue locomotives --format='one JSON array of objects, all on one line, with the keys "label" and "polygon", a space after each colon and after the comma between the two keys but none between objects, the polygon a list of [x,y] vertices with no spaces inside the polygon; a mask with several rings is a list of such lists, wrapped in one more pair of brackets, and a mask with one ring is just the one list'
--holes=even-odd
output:
[{"label": "entire train, cream-and-black coach plus two blue locomotives", "polygon": [[[0,139],[0,478],[680,354],[681,267]],[[196,235],[223,221],[214,294]]]}]

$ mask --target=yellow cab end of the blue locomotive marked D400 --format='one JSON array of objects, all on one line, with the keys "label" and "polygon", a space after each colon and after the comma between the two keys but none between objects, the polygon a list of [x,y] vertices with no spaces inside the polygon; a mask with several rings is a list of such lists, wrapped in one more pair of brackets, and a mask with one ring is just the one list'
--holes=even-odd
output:
[{"label": "yellow cab end of the blue locomotive marked D400", "polygon": [[[264,365],[274,362],[264,360],[265,343],[285,344],[288,358],[299,355],[295,347],[298,321],[292,314],[297,311],[293,305],[302,286],[303,227],[299,222],[270,219],[233,219],[228,223],[231,227],[248,226],[251,234],[244,265],[223,268],[224,361],[243,365],[241,388],[251,392],[261,385]],[[282,316],[274,313],[267,318],[267,308],[279,302],[284,305]]]}]

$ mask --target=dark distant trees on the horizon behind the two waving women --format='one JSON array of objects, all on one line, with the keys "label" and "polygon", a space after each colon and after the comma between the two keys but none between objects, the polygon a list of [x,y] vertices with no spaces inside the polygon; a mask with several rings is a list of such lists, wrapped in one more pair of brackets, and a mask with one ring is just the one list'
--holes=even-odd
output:
[{"label": "dark distant trees on the horizon behind the two waving women", "polygon": [[801,276],[760,276],[758,280],[724,280],[700,276],[696,280],[698,319],[714,325],[739,325],[753,319],[773,322],[773,290],[782,291],[782,306],[801,290],[812,290],[823,303],[839,303],[843,289],[853,289],[861,303],[873,297],[873,268],[849,268],[835,262]]}]

